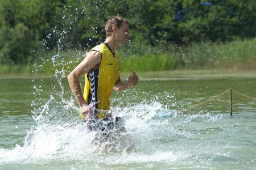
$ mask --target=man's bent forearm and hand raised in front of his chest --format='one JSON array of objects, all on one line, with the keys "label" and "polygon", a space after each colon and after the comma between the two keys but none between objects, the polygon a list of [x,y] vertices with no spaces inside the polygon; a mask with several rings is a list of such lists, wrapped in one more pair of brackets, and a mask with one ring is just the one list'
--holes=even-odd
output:
[{"label": "man's bent forearm and hand raised in front of his chest", "polygon": [[135,72],[133,72],[127,82],[122,82],[120,75],[118,76],[117,82],[115,82],[115,86],[113,87],[114,91],[123,91],[129,87],[135,86],[139,82],[139,78]]}]

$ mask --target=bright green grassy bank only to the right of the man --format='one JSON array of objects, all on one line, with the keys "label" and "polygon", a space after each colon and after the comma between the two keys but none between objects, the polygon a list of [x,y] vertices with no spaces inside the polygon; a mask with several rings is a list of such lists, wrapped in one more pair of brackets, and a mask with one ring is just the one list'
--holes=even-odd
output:
[{"label": "bright green grassy bank only to the right of the man", "polygon": [[195,44],[131,55],[121,62],[121,70],[163,71],[175,69],[256,69],[256,39],[226,44]]}]

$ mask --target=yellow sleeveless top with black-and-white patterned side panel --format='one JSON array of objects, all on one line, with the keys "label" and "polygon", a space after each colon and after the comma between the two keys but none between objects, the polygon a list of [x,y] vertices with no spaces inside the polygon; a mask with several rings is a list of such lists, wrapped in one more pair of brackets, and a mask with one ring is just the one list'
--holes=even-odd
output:
[{"label": "yellow sleeveless top with black-and-white patterned side panel", "polygon": [[91,51],[101,53],[101,64],[97,70],[90,70],[85,74],[84,99],[95,108],[97,118],[109,117],[105,112],[110,106],[110,95],[119,76],[119,55],[112,52],[108,44],[95,46]]}]

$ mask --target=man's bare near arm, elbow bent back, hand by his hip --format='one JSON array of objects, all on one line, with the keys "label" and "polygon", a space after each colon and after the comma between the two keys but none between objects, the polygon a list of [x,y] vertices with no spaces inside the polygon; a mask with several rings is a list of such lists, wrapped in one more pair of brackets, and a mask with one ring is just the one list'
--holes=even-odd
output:
[{"label": "man's bare near arm, elbow bent back, hand by his hip", "polygon": [[68,75],[69,86],[73,95],[76,97],[80,107],[82,108],[82,114],[86,115],[92,111],[88,107],[84,97],[82,96],[79,77],[88,73],[96,65],[101,63],[101,53],[97,51],[89,52],[85,59]]}]

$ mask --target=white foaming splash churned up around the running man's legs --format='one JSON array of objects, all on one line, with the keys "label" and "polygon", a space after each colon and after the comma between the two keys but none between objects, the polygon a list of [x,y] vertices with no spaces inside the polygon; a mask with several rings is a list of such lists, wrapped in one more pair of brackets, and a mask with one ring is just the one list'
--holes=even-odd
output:
[{"label": "white foaming splash churned up around the running man's legs", "polygon": [[[63,103],[51,97],[42,107],[42,112],[35,117],[38,125],[28,132],[24,146],[17,145],[12,150],[1,149],[0,163],[47,164],[53,160],[82,159],[84,163],[95,167],[101,164],[187,162],[192,155],[209,156],[209,153],[194,150],[200,147],[200,143],[193,145],[198,137],[187,129],[189,125],[186,124],[193,120],[196,124],[198,119],[206,119],[205,123],[214,124],[222,119],[222,116],[209,114],[185,116],[164,108],[159,102],[143,101],[129,107],[112,108],[113,117],[121,117],[121,120],[118,126],[107,132],[106,137],[101,130],[90,131],[87,122],[79,118],[73,104]],[[192,129],[197,130],[195,127]],[[200,129],[197,131],[200,133]],[[208,146],[205,142],[204,145]],[[216,148],[212,148],[212,154],[214,152]],[[219,154],[228,155],[226,152]]]}]

